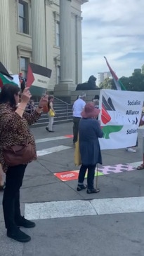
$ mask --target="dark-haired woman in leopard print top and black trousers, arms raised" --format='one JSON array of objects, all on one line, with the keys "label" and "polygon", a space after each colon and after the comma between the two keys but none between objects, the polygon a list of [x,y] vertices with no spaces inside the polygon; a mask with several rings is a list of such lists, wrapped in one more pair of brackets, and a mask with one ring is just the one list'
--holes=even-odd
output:
[{"label": "dark-haired woman in leopard print top and black trousers, arms raised", "polygon": [[[25,168],[27,163],[37,159],[34,136],[29,126],[41,116],[41,109],[48,101],[48,97],[41,97],[38,107],[32,114],[25,112],[27,102],[32,97],[29,88],[24,89],[18,105],[19,97],[18,86],[6,84],[2,87],[0,93],[0,162],[6,173],[3,210],[7,236],[24,243],[30,241],[31,237],[19,227],[35,226],[34,222],[26,220],[20,213],[20,187]],[[18,150],[14,151],[14,147]],[[24,149],[25,154],[20,154],[19,152]]]}]

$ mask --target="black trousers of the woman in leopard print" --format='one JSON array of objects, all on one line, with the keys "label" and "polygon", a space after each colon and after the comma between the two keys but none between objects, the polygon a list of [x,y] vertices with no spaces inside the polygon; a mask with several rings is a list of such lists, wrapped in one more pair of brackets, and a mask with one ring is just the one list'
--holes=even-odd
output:
[{"label": "black trousers of the woman in leopard print", "polygon": [[8,167],[6,188],[3,197],[4,221],[6,229],[14,229],[15,222],[20,219],[20,187],[27,165]]}]

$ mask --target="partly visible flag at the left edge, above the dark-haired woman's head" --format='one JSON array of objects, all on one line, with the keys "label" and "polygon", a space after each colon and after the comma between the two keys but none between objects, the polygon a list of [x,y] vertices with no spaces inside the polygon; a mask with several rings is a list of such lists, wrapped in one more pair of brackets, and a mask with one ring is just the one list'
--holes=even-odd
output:
[{"label": "partly visible flag at the left edge, above the dark-haired woman's head", "polygon": [[14,86],[18,86],[18,82],[15,82],[13,76],[11,76],[6,67],[0,62],[0,87],[4,86],[7,83],[11,83]]}]

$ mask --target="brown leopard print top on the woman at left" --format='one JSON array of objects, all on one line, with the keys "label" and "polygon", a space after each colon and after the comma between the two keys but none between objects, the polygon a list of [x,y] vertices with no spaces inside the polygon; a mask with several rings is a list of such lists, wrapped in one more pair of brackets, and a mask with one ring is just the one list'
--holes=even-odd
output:
[{"label": "brown leopard print top on the woman at left", "polygon": [[[19,116],[13,107],[3,103],[0,105],[0,163],[4,170],[4,173],[8,170],[3,156],[3,148],[11,147],[13,145],[20,145],[26,141],[31,142],[35,149],[34,159],[37,159],[36,145],[34,142],[34,136],[32,135],[29,126],[35,123],[41,114],[36,110],[32,114],[24,112]],[[23,163],[26,164],[26,163]]]}]

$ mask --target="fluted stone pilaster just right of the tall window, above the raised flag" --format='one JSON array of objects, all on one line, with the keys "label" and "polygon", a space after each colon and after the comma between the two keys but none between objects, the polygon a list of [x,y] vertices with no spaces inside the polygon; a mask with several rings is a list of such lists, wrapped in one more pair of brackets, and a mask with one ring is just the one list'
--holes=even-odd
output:
[{"label": "fluted stone pilaster just right of the tall window, above the raised flag", "polygon": [[44,0],[32,0],[32,60],[46,67],[46,13]]}]

